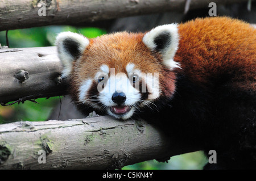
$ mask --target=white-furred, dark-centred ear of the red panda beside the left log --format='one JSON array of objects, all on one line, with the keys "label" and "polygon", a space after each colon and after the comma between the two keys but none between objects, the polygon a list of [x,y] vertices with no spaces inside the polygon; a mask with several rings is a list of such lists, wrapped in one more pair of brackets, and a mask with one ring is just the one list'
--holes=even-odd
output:
[{"label": "white-furred, dark-centred ear of the red panda beside the left log", "polygon": [[77,33],[61,32],[56,37],[58,56],[64,65],[61,77],[68,77],[72,71],[72,62],[77,60],[89,45],[89,40]]}]

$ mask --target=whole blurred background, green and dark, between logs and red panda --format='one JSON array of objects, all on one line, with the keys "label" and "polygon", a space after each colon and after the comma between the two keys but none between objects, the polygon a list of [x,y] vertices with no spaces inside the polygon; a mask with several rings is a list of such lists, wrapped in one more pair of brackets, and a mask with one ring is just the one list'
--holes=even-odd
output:
[{"label": "whole blurred background, green and dark, between logs and red panda", "polygon": [[[233,5],[217,6],[217,14],[220,16],[232,16],[249,23],[256,23],[255,9],[255,3],[251,5],[250,9],[248,9],[247,3],[236,3]],[[164,14],[133,16],[88,23],[84,27],[46,26],[10,30],[7,32],[7,37],[10,48],[46,47],[53,46],[57,33],[63,31],[81,33],[88,38],[114,31],[147,31],[160,24],[180,23],[196,17],[209,16],[208,10],[209,8],[207,7],[207,9],[188,11],[187,14],[182,12],[168,12]],[[6,45],[6,31],[0,32],[0,44],[2,46]],[[65,98],[63,96],[49,99],[41,98],[36,99],[36,102],[39,104],[27,101],[24,102],[24,104],[20,103],[5,107],[0,106],[0,124],[14,121],[67,120],[83,117],[76,111],[75,107],[72,106],[68,96]],[[62,104],[60,104],[60,102]],[[152,160],[125,166],[123,169],[203,169],[205,163],[207,163],[207,158],[204,156],[203,152],[196,151],[172,157],[168,163],[160,163]]]}]

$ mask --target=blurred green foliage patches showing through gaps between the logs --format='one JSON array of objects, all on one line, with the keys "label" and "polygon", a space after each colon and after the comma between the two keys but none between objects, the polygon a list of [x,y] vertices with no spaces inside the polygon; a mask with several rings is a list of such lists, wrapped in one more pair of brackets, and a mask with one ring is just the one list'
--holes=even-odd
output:
[{"label": "blurred green foliage patches showing through gaps between the logs", "polygon": [[[106,33],[99,28],[76,28],[71,26],[47,26],[11,30],[8,32],[10,48],[53,46],[57,33],[63,31],[77,32],[93,38]],[[6,32],[0,32],[0,44],[6,45]],[[52,108],[60,101],[59,97],[36,99],[39,104],[25,102],[13,106],[0,106],[0,124],[14,121],[46,121]],[[155,160],[125,166],[123,169],[202,169],[207,162],[202,151],[177,155],[169,163]]]}]

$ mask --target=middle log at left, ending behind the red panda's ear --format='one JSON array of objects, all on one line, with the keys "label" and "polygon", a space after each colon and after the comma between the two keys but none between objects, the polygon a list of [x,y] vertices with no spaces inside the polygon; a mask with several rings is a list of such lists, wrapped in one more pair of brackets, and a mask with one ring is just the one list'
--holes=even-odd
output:
[{"label": "middle log at left, ending behind the red panda's ear", "polygon": [[56,47],[0,49],[0,103],[67,94]]}]

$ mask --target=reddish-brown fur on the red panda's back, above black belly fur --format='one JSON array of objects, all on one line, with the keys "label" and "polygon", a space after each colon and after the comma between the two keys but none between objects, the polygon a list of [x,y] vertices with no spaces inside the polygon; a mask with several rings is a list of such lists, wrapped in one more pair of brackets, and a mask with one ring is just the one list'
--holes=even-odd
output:
[{"label": "reddish-brown fur on the red panda's back, above black belly fur", "polygon": [[256,29],[230,18],[195,19],[179,25],[175,61],[187,77],[207,83],[211,77],[233,74],[232,83],[256,90]]}]

